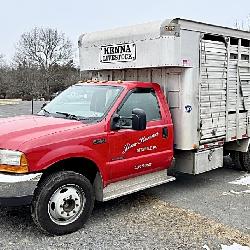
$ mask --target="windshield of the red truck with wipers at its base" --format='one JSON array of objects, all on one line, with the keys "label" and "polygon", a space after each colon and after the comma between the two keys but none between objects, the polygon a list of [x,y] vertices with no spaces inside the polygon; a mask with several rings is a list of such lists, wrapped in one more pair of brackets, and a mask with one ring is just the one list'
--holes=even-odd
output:
[{"label": "windshield of the red truck with wipers at its base", "polygon": [[100,120],[120,94],[122,87],[74,85],[63,91],[38,114],[76,120]]}]

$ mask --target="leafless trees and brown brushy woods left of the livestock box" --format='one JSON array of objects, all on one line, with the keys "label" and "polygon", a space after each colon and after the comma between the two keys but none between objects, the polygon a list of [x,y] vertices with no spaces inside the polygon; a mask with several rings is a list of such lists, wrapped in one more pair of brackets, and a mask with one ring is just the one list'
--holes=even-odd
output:
[{"label": "leafless trees and brown brushy woods left of the livestock box", "polygon": [[73,49],[57,29],[34,28],[22,34],[10,63],[0,54],[0,98],[49,100],[76,83],[80,73]]}]

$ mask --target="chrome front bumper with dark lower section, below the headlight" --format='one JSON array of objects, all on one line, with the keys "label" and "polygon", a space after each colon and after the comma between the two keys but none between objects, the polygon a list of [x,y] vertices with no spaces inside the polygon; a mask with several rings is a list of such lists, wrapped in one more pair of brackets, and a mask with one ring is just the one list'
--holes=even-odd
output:
[{"label": "chrome front bumper with dark lower section, below the headlight", "polygon": [[31,202],[42,174],[0,173],[0,205],[25,205]]}]

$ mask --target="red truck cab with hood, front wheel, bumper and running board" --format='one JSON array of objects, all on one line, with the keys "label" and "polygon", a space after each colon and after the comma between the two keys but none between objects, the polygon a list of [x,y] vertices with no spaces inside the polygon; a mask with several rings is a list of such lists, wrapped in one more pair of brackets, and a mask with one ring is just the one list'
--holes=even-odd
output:
[{"label": "red truck cab with hood, front wheel, bumper and running board", "polygon": [[0,205],[31,204],[49,234],[81,228],[95,200],[174,180],[173,124],[156,83],[79,82],[0,128]]}]

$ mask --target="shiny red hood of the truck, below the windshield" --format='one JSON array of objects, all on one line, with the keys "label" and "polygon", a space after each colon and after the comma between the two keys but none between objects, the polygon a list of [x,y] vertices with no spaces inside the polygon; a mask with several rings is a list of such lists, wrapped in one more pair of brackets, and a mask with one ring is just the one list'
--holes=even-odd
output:
[{"label": "shiny red hood of the truck, below the windshield", "polygon": [[33,115],[0,119],[0,148],[18,150],[29,140],[84,125],[74,120]]}]

